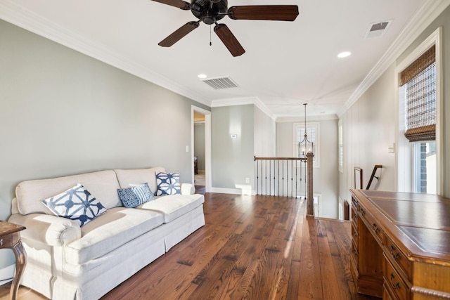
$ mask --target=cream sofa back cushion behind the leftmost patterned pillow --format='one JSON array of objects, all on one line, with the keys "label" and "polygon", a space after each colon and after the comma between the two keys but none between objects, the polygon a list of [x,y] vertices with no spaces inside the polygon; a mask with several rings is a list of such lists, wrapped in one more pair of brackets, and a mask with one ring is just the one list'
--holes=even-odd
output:
[{"label": "cream sofa back cushion behind the leftmost patterned pillow", "polygon": [[15,188],[18,210],[21,214],[51,214],[41,201],[58,195],[77,185],[77,183],[81,183],[86,190],[89,190],[91,195],[96,197],[106,209],[122,206],[119,195],[117,195],[117,188],[120,188],[120,185],[115,172],[105,170],[58,178],[23,181]]}]

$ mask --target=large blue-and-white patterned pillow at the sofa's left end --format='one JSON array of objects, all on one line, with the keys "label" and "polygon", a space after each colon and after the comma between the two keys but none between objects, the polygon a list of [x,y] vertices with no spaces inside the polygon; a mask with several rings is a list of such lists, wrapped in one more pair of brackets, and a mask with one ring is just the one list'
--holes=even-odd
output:
[{"label": "large blue-and-white patterned pillow at the sofa's left end", "polygon": [[42,200],[42,203],[56,216],[77,221],[80,227],[106,211],[96,197],[93,197],[80,183],[63,193]]}]

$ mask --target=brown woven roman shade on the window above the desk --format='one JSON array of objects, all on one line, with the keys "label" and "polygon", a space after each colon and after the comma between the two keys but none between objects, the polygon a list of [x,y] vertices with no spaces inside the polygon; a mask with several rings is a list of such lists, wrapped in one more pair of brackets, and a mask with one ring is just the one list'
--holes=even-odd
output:
[{"label": "brown woven roman shade on the window above the desk", "polygon": [[436,140],[435,46],[400,74],[406,84],[406,132],[410,142]]}]

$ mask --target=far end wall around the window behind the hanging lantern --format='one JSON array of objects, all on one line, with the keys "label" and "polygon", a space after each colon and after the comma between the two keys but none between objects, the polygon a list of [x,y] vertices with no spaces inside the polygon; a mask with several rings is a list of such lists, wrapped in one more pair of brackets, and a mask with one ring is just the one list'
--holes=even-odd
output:
[{"label": "far end wall around the window behind the hanging lantern", "polygon": [[[313,169],[313,190],[321,194],[319,216],[338,218],[338,119],[315,120],[320,126],[320,167]],[[294,123],[276,123],[276,156],[297,157],[294,153]]]}]

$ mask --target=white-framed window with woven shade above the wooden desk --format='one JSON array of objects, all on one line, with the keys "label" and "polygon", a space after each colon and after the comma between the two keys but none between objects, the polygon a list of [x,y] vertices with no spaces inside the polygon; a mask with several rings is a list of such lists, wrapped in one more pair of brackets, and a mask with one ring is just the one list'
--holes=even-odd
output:
[{"label": "white-framed window with woven shade above the wooden desk", "polygon": [[397,68],[399,191],[439,192],[439,36],[437,30]]}]

